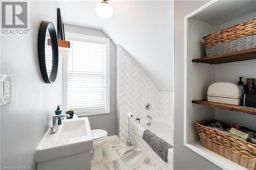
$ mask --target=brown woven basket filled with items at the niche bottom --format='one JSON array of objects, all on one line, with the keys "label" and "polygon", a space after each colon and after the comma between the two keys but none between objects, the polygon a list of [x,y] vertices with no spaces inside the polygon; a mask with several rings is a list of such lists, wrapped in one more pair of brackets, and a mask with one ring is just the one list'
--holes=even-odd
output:
[{"label": "brown woven basket filled with items at the niche bottom", "polygon": [[203,147],[247,169],[256,169],[256,144],[240,140],[202,124],[196,123]]}]

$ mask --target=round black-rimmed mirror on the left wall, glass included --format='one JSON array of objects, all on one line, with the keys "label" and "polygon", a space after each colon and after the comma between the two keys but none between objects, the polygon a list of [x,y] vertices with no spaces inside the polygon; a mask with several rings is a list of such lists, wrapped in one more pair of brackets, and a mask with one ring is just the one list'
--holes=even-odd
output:
[{"label": "round black-rimmed mirror on the left wall, glass included", "polygon": [[38,32],[38,59],[42,79],[53,83],[58,72],[58,40],[52,22],[42,21]]}]

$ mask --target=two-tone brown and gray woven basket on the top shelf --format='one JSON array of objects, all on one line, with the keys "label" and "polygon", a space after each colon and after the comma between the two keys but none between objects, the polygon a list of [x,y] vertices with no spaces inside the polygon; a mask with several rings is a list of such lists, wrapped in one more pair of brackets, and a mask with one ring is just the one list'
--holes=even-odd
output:
[{"label": "two-tone brown and gray woven basket on the top shelf", "polygon": [[206,56],[256,47],[256,18],[203,37]]}]

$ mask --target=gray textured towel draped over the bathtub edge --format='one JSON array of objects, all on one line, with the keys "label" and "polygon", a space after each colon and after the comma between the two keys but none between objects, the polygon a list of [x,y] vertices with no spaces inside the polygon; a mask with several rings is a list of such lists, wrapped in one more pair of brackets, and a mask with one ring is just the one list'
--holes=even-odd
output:
[{"label": "gray textured towel draped over the bathtub edge", "polygon": [[168,149],[173,148],[172,144],[167,143],[150,130],[144,130],[142,138],[164,162],[167,162]]}]

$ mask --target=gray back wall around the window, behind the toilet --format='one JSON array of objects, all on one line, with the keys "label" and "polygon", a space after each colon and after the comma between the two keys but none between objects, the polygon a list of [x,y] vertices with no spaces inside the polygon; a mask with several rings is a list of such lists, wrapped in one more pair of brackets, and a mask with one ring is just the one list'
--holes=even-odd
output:
[{"label": "gray back wall around the window, behind the toilet", "polygon": [[[103,31],[65,25],[65,32],[85,34],[91,36],[105,37],[109,38]],[[110,113],[109,114],[99,114],[99,115],[89,115],[89,122],[91,129],[104,129],[108,131],[108,135],[117,135],[119,125],[117,119],[117,104],[116,104],[116,45],[111,40],[110,41]]]}]

